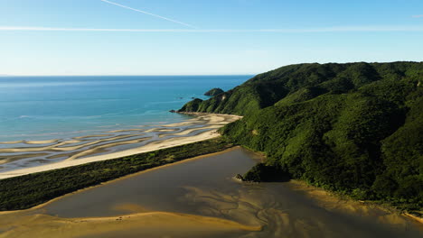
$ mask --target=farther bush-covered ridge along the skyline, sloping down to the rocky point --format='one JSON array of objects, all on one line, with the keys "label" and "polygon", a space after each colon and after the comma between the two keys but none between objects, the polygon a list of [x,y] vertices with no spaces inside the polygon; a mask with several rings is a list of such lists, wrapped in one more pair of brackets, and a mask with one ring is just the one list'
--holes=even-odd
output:
[{"label": "farther bush-covered ridge along the skyline, sloping down to the rocky point", "polygon": [[287,96],[299,102],[327,92],[346,93],[381,79],[409,78],[418,83],[423,80],[421,68],[418,62],[290,65],[259,74],[211,99],[196,99],[179,111],[245,115]]}]

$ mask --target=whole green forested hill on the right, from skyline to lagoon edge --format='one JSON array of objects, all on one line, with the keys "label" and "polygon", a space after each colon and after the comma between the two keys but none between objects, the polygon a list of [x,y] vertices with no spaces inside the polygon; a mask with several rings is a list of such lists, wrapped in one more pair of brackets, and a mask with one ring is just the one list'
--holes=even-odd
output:
[{"label": "whole green forested hill on the right, from skyline to lagoon edge", "polygon": [[221,132],[267,154],[251,180],[300,178],[422,209],[423,63],[291,65],[180,111],[245,115]]}]

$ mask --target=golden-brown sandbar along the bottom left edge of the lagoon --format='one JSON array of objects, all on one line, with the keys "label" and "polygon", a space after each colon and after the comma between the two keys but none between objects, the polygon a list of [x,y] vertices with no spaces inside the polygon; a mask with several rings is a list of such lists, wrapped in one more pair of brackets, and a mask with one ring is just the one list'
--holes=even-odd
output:
[{"label": "golden-brown sandbar along the bottom left edge of the lagoon", "polygon": [[[51,215],[5,215],[0,237],[113,237],[127,231],[132,237],[202,237],[208,233],[259,231],[230,220],[166,212],[136,213],[111,217],[60,218]],[[107,236],[106,236],[107,235]],[[118,236],[116,236],[118,237]]]}]

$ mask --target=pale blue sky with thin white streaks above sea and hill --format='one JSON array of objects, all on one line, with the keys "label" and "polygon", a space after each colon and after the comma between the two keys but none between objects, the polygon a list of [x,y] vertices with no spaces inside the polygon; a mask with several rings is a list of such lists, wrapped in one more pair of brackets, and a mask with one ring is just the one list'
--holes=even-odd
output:
[{"label": "pale blue sky with thin white streaks above sea and hill", "polygon": [[423,0],[0,0],[0,15],[0,75],[423,60]]}]

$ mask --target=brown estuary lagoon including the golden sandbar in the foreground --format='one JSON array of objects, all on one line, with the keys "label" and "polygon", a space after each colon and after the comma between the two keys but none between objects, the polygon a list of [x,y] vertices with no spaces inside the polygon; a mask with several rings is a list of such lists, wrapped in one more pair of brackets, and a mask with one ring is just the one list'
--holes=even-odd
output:
[{"label": "brown estuary lagoon including the golden sandbar in the foreground", "polygon": [[[0,215],[0,229],[5,237],[25,237],[19,234],[28,227],[32,233],[51,232],[51,237],[422,235],[418,224],[400,215],[371,207],[365,214],[329,207],[326,205],[334,201],[323,205],[296,184],[240,183],[233,179],[258,160],[257,154],[235,148],[153,169],[62,197],[24,214]],[[71,235],[76,230],[80,233]]]}]

